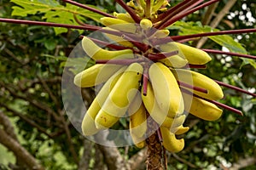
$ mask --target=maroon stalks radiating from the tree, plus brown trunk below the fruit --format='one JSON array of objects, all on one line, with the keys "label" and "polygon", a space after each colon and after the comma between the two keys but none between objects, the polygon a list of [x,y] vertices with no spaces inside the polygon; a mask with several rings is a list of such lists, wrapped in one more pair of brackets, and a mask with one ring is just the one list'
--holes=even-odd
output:
[{"label": "maroon stalks radiating from the tree, plus brown trunk below the fruit", "polygon": [[[206,8],[209,5],[212,5],[213,3],[217,3],[219,0],[210,0],[207,1],[207,3],[204,3],[203,0],[183,0],[181,3],[178,3],[176,6],[173,6],[172,8],[168,8],[165,12],[163,12],[162,14],[158,14],[157,18],[152,19],[152,22],[154,23],[153,28],[154,29],[164,29],[167,26],[171,26],[173,23],[175,23],[177,20],[181,20],[184,17],[188,16],[189,14],[194,13],[197,10],[200,10],[201,8]],[[81,4],[81,3],[77,3],[71,0],[62,0],[62,2],[65,3],[71,3],[75,6],[78,6],[80,8],[84,8],[87,10],[90,10],[91,12],[94,12],[96,14],[101,14],[102,16],[107,16],[107,17],[113,17],[114,16],[112,14],[108,14],[105,12],[102,12],[101,10],[98,10],[96,8],[91,8],[88,5],[85,4]],[[135,23],[137,23],[139,25],[140,21],[143,18],[150,18],[151,14],[150,14],[150,0],[145,0],[146,8],[144,9],[145,14],[144,16],[139,16],[136,11],[131,8],[130,6],[128,6],[126,3],[124,3],[122,0],[116,0],[116,3],[119,3],[119,5],[122,8],[125,8],[126,12],[129,13],[131,15],[131,18],[135,21]],[[58,23],[50,23],[50,22],[44,22],[44,21],[34,21],[34,20],[15,20],[15,19],[6,19],[6,18],[0,18],[0,22],[6,22],[6,23],[13,23],[13,24],[25,24],[25,25],[34,25],[34,26],[51,26],[51,27],[64,27],[64,28],[69,28],[69,29],[79,29],[79,30],[84,30],[84,31],[102,31],[104,33],[108,33],[108,34],[113,34],[119,37],[124,37],[126,40],[130,41],[130,42],[134,42],[134,45],[136,45],[137,48],[133,48],[134,53],[140,53],[140,52],[145,52],[147,51],[148,47],[146,44],[144,44],[143,42],[139,42],[139,40],[137,39],[137,37],[135,37],[134,35],[130,34],[130,33],[125,33],[125,32],[119,32],[119,31],[109,31],[109,30],[104,30],[102,29],[101,26],[91,26],[85,23],[82,23],[80,20],[77,19],[77,17],[74,15],[75,20],[79,23],[79,26],[73,26],[73,25],[67,25],[67,24],[58,24]],[[162,44],[162,43],[166,43],[166,42],[188,42],[191,40],[195,40],[197,38],[200,37],[211,37],[211,36],[218,36],[218,35],[230,35],[230,34],[243,34],[243,33],[252,33],[252,32],[256,32],[256,29],[240,29],[240,30],[230,30],[230,31],[215,31],[215,32],[205,32],[205,33],[199,33],[199,34],[192,34],[192,35],[185,35],[185,36],[171,36],[171,37],[163,37],[160,39],[157,39],[156,41],[152,41],[150,42],[153,46]],[[82,36],[81,36],[82,37]],[[102,44],[107,46],[108,48],[113,48],[113,49],[124,49],[125,47],[123,46],[119,46],[116,44],[109,44],[108,42],[102,42],[100,40],[96,40],[91,38],[91,40],[93,40],[96,43]],[[241,57],[241,58],[247,58],[247,59],[256,59],[256,56],[253,55],[249,55],[249,54],[237,54],[237,53],[231,53],[231,52],[224,52],[224,51],[220,51],[220,50],[215,50],[215,49],[202,49],[203,51],[207,52],[208,54],[225,54],[225,55],[230,55],[230,56],[236,56],[236,57]],[[172,53],[177,53],[177,52],[172,52]],[[161,56],[160,54],[155,55],[155,56],[148,56],[148,59],[160,59]],[[164,56],[165,57],[165,56]],[[107,63],[109,64],[109,62],[113,62],[112,64],[120,64],[122,62],[124,62],[124,65],[129,65],[131,64],[131,62],[142,62],[141,60],[137,59],[137,60],[132,60],[130,61],[129,59],[126,60],[112,60],[112,61],[108,61],[108,60],[97,60],[96,63],[97,64],[105,64]],[[116,63],[114,63],[116,62]],[[200,69],[205,69],[206,66],[205,65],[187,65],[189,68],[200,68]],[[146,79],[147,77],[144,77],[144,79]],[[146,80],[143,80],[146,81]],[[220,86],[224,86],[226,88],[231,88],[233,90],[236,90],[238,92],[244,93],[244,94],[248,94],[251,95],[253,97],[256,97],[256,94],[250,93],[244,89],[241,88],[237,88],[234,86],[231,86],[230,84],[226,84],[224,82],[219,82],[219,81],[215,81],[217,82]],[[182,82],[180,82],[182,83]],[[185,84],[183,84],[183,86],[185,86]],[[201,89],[198,89],[201,90]],[[144,92],[146,93],[146,89],[144,90]],[[220,107],[223,107],[226,110],[229,111],[233,111],[239,115],[241,115],[241,111],[236,110],[235,108],[232,108],[228,105],[224,105],[221,104],[217,101],[212,101],[214,102],[215,105],[218,105]],[[147,144],[148,144],[148,169],[163,169],[166,166],[163,166],[163,163],[159,163],[161,162],[161,160],[163,160],[163,156],[162,153],[165,152],[164,150],[161,150],[160,146],[160,135],[158,134],[159,132],[155,132],[151,137],[149,137],[147,139]],[[153,156],[154,153],[154,156]],[[165,164],[165,163],[164,163]]]}]

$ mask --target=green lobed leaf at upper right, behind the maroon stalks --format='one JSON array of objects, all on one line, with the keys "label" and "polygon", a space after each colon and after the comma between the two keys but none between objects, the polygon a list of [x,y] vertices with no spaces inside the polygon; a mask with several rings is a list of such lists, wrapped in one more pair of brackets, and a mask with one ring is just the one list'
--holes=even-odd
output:
[{"label": "green lobed leaf at upper right, behind the maroon stalks", "polygon": [[[210,26],[201,26],[200,22],[183,22],[177,21],[173,26],[168,27],[168,29],[178,29],[180,30],[180,35],[191,35],[191,34],[199,34],[205,32],[219,31],[218,29],[213,29]],[[220,35],[220,36],[210,36],[213,42],[218,43],[220,46],[228,48],[230,52],[239,53],[239,54],[247,54],[246,48],[242,47],[241,43],[236,42],[235,39],[229,35]],[[253,59],[241,58],[242,64],[247,65],[250,64],[256,69],[256,61]]]}]

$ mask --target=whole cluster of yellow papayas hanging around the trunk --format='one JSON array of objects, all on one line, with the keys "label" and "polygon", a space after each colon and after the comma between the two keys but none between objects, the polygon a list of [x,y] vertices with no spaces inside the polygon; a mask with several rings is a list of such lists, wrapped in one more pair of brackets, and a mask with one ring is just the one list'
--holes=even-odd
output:
[{"label": "whole cluster of yellow papayas hanging around the trunk", "polygon": [[[166,1],[158,2],[154,11],[161,10],[160,3]],[[76,75],[74,83],[81,88],[103,84],[84,115],[84,135],[110,128],[128,114],[131,138],[142,148],[151,116],[166,150],[183,150],[184,140],[176,136],[189,131],[183,127],[187,114],[207,121],[222,115],[222,110],[209,102],[224,96],[218,83],[187,67],[206,65],[211,57],[179,42],[154,45],[155,40],[168,37],[169,31],[154,30],[150,19],[136,24],[128,13],[113,15],[102,17],[103,34],[122,49],[101,48],[90,37],[82,40],[84,52],[96,60],[96,65]],[[97,64],[99,60],[105,63]]]}]

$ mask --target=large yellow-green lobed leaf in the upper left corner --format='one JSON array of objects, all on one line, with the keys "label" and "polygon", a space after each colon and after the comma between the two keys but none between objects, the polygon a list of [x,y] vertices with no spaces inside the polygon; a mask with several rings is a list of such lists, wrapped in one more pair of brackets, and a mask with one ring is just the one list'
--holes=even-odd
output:
[{"label": "large yellow-green lobed leaf in the upper left corner", "polygon": [[[25,17],[27,14],[44,14],[42,19],[47,22],[78,26],[79,23],[74,20],[74,14],[79,20],[90,18],[99,22],[100,18],[102,18],[101,14],[93,13],[90,10],[79,8],[69,3],[66,6],[62,6],[56,0],[11,0],[11,2],[19,5],[12,7],[12,15]],[[96,8],[92,5],[90,7]],[[54,29],[56,34],[67,32],[67,28],[55,27]]]}]

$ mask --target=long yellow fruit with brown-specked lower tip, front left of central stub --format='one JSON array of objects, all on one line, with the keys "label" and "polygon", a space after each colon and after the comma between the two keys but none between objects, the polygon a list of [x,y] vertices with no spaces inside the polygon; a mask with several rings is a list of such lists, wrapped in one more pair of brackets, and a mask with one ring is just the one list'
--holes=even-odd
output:
[{"label": "long yellow fruit with brown-specked lower tip, front left of central stub", "polygon": [[143,66],[132,63],[116,82],[108,99],[102,105],[101,111],[96,116],[96,127],[99,129],[112,127],[118,122],[119,117],[125,115],[131,101],[137,94],[140,80],[143,74]]}]

